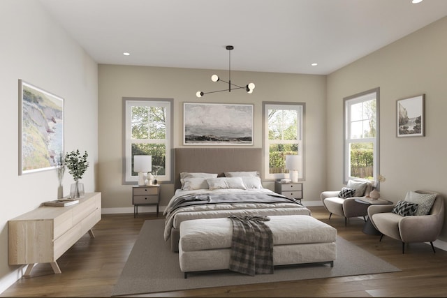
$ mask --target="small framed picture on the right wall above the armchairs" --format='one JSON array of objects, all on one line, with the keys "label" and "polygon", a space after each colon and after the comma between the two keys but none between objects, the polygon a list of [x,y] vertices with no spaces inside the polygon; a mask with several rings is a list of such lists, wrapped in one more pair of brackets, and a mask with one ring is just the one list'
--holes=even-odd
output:
[{"label": "small framed picture on the right wall above the armchairs", "polygon": [[425,136],[425,94],[396,102],[397,137]]}]

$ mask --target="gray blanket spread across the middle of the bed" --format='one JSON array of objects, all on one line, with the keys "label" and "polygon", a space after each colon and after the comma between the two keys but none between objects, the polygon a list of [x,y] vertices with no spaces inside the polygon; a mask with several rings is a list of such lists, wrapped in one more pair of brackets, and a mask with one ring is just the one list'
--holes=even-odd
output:
[{"label": "gray blanket spread across the middle of the bed", "polygon": [[237,204],[237,203],[295,203],[302,204],[293,198],[287,198],[278,193],[226,193],[219,195],[182,195],[175,199],[173,204],[166,210],[170,214],[177,208],[199,204]]}]

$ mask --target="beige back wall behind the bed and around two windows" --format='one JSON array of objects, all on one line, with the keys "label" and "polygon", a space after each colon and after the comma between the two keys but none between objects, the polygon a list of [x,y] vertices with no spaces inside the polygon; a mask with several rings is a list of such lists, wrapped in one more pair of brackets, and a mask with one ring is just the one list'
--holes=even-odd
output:
[{"label": "beige back wall behind the bed and around two windows", "polygon": [[[182,147],[183,103],[252,103],[254,104],[254,147],[262,147],[262,102],[306,103],[305,200],[318,201],[325,184],[325,84],[324,75],[291,75],[232,71],[235,84],[254,82],[253,94],[242,90],[209,94],[196,98],[196,91],[225,89],[213,83],[213,73],[226,77],[228,70],[198,70],[142,66],[100,65],[99,95],[99,188],[103,193],[105,212],[131,212],[131,186],[122,185],[122,98],[173,98],[173,147]],[[220,85],[219,85],[220,84]],[[273,188],[272,183],[265,184]],[[163,184],[161,206],[166,206],[174,193],[173,184]],[[147,207],[148,210],[154,207]]]}]

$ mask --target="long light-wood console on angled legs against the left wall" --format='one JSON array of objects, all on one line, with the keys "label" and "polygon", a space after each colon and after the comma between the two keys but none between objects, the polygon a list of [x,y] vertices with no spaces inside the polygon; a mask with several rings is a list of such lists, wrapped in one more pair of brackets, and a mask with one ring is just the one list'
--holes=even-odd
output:
[{"label": "long light-wood console on angled legs against the left wall", "polygon": [[39,207],[8,221],[8,263],[28,265],[50,263],[60,274],[57,259],[101,221],[101,193],[86,193],[79,204],[67,207]]}]

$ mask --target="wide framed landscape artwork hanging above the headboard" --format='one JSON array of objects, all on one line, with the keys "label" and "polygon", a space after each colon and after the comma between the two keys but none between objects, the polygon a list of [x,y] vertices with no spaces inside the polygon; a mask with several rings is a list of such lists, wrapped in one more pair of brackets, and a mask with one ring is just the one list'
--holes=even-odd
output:
[{"label": "wide framed landscape artwork hanging above the headboard", "polygon": [[252,145],[254,105],[184,103],[184,145]]}]

